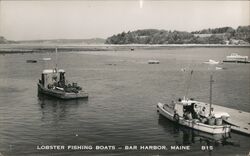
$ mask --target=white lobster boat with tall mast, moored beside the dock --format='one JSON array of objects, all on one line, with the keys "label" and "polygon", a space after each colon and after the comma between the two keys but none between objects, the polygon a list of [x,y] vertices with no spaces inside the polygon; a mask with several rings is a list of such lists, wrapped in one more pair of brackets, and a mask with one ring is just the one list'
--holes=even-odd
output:
[{"label": "white lobster boat with tall mast, moored beside the dock", "polygon": [[212,82],[211,76],[210,104],[189,100],[184,97],[168,104],[158,103],[157,111],[167,119],[195,130],[210,134],[229,133],[231,126],[223,122],[223,118],[229,118],[229,114],[213,111],[211,104]]}]

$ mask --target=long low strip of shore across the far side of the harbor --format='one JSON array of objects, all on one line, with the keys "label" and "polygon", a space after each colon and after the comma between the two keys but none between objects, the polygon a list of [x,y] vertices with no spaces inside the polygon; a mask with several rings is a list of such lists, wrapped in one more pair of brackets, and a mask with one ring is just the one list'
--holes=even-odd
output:
[{"label": "long low strip of shore across the far side of the harbor", "polygon": [[78,52],[78,51],[134,51],[152,50],[165,48],[250,48],[247,45],[225,45],[225,44],[93,44],[93,45],[46,45],[46,44],[0,44],[0,54],[15,53],[41,53],[54,52],[57,47],[58,52]]}]

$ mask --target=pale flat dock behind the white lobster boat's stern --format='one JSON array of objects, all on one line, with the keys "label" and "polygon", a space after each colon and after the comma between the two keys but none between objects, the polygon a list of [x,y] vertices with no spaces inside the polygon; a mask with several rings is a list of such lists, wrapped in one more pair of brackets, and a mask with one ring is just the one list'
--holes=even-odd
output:
[{"label": "pale flat dock behind the white lobster boat's stern", "polygon": [[215,111],[227,112],[230,118],[225,120],[227,123],[231,124],[231,129],[233,131],[250,135],[250,113],[244,112],[237,109],[227,108],[219,105],[212,106]]}]

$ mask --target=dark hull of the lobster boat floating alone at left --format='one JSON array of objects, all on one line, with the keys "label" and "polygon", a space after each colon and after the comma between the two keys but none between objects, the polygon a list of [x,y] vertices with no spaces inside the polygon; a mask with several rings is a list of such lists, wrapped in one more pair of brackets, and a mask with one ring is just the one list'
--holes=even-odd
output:
[{"label": "dark hull of the lobster boat floating alone at left", "polygon": [[37,84],[38,87],[38,93],[46,94],[49,96],[57,97],[60,99],[79,99],[79,98],[88,98],[88,93],[86,92],[78,92],[78,93],[68,93],[61,90],[55,90],[55,89],[47,89],[44,88],[41,84]]}]

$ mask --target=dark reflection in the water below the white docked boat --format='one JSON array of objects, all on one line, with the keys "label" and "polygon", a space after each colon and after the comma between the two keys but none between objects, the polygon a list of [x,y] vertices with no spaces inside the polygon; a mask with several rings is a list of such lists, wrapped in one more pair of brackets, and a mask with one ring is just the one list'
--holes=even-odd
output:
[{"label": "dark reflection in the water below the white docked boat", "polygon": [[[235,146],[239,147],[238,142],[231,141],[232,137],[230,133],[226,134],[209,134],[191,128],[187,128],[181,125],[178,125],[164,116],[159,115],[158,123],[162,126],[166,133],[172,132],[173,135],[177,138],[177,145],[207,145],[207,146]],[[172,130],[171,130],[172,129]]]}]

